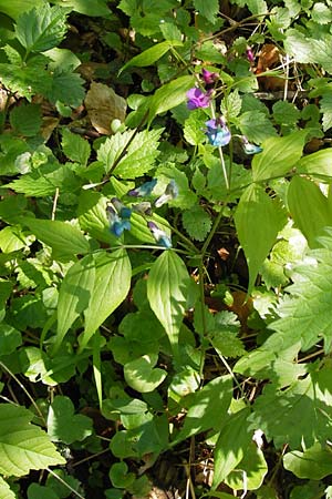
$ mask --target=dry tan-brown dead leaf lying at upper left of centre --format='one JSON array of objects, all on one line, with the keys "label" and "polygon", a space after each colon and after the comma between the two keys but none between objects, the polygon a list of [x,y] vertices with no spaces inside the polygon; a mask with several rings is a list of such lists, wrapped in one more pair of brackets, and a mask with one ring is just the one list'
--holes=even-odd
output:
[{"label": "dry tan-brown dead leaf lying at upper left of centre", "polygon": [[84,103],[91,123],[98,133],[111,135],[112,121],[125,120],[127,108],[125,99],[104,83],[92,82]]}]

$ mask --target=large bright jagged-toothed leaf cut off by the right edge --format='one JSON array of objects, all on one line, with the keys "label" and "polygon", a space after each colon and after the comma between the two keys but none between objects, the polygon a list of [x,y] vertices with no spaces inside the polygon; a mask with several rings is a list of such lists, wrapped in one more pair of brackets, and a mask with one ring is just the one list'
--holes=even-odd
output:
[{"label": "large bright jagged-toothed leaf cut off by the right edge", "polygon": [[[288,287],[290,296],[284,296],[278,306],[280,319],[269,327],[282,338],[291,334],[293,340],[302,340],[302,349],[308,349],[321,337],[325,342],[325,352],[332,345],[331,334],[331,271],[332,271],[332,230],[325,230],[326,236],[320,241],[323,248],[312,249],[309,256],[318,261],[315,265],[297,266]],[[291,333],[292,332],[292,333]]]}]

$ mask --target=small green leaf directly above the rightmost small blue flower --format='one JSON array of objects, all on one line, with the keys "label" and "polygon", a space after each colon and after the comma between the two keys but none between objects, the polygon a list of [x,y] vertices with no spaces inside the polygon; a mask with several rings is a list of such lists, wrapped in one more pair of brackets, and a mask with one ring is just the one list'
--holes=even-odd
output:
[{"label": "small green leaf directly above the rightmost small blue flower", "polygon": [[259,144],[266,139],[277,135],[271,120],[260,111],[246,111],[242,113],[238,119],[238,126],[248,141]]}]

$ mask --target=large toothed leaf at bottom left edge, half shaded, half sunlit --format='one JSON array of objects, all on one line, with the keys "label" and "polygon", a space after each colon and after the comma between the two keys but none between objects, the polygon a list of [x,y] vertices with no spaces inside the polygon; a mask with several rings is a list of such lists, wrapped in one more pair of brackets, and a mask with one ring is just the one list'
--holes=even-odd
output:
[{"label": "large toothed leaf at bottom left edge, half shaded, half sunlit", "polygon": [[31,469],[64,465],[48,435],[31,425],[33,414],[23,407],[0,404],[0,472],[22,477]]}]

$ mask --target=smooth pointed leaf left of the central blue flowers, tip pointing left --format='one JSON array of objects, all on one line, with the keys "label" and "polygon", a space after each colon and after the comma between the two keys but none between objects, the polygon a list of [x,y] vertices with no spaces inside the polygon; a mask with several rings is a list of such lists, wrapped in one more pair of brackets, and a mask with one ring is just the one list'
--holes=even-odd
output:
[{"label": "smooth pointed leaf left of the central blue flowers, tip pointing left", "polygon": [[70,261],[77,254],[90,252],[90,244],[82,232],[65,222],[28,217],[22,222],[38,240],[51,246],[54,258]]}]

